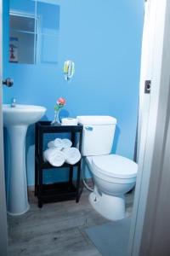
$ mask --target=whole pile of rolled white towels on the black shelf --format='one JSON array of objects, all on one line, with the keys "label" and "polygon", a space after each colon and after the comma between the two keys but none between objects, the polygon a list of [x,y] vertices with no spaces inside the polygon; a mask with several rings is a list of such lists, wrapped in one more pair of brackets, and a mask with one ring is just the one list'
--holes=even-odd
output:
[{"label": "whole pile of rolled white towels on the black shelf", "polygon": [[71,146],[71,140],[56,138],[48,143],[48,149],[43,152],[44,161],[56,167],[62,166],[65,162],[75,165],[81,159],[81,154],[77,148]]}]

